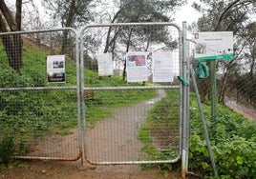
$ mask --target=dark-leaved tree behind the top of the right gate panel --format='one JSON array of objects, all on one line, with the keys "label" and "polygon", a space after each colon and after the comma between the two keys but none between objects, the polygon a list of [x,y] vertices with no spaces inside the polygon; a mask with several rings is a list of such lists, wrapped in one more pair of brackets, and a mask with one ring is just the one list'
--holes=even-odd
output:
[{"label": "dark-leaved tree behind the top of the right gate panel", "polygon": [[[129,0],[121,1],[119,9],[110,19],[111,23],[135,23],[135,22],[170,22],[171,18],[168,16],[170,10],[181,6],[183,1],[147,1],[147,0]],[[111,15],[110,15],[111,16]],[[156,35],[159,33],[159,35]],[[133,36],[133,38],[131,38]],[[143,42],[146,39],[146,47],[144,50],[147,51],[149,44],[152,42],[165,43],[166,46],[172,46],[174,43],[168,44],[170,39],[167,38],[167,33],[164,28],[161,30],[148,31],[146,29],[136,30],[127,29],[123,27],[112,28],[110,27],[107,33],[106,44],[104,52],[115,51],[117,43],[122,43],[126,46],[126,52],[130,48],[135,48],[137,44],[134,42]],[[156,38],[158,37],[158,38]],[[160,39],[161,38],[161,39]],[[136,39],[136,41],[132,41]],[[114,54],[115,56],[115,54]],[[125,78],[126,63],[124,60],[123,79]]]}]

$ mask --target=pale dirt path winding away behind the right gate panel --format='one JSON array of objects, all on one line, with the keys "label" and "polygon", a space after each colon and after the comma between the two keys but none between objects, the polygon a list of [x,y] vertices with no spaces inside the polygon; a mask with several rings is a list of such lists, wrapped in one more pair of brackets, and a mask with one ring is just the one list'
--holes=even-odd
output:
[{"label": "pale dirt path winding away behind the right gate panel", "polygon": [[112,117],[96,123],[86,132],[86,153],[92,163],[143,160],[143,144],[139,129],[145,123],[150,109],[166,93],[157,90],[157,97],[131,107],[113,109]]}]

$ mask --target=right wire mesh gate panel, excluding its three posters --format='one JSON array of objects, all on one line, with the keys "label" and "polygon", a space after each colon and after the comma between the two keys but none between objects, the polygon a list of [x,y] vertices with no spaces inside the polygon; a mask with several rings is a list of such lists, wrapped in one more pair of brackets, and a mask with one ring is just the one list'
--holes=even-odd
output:
[{"label": "right wire mesh gate panel, excluding its three posters", "polygon": [[[171,23],[89,25],[80,40],[86,160],[142,164],[180,159],[181,85],[175,78],[169,83],[152,82],[152,54],[157,51],[172,51],[173,76],[181,72],[179,27]],[[127,51],[146,52],[146,82],[122,79],[127,74]],[[98,73],[98,55],[106,52],[112,54],[114,74],[104,76]]]}]

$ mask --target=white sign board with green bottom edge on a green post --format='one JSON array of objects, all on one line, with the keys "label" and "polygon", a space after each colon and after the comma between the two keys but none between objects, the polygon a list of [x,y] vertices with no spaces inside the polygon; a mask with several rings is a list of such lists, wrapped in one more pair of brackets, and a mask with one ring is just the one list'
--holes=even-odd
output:
[{"label": "white sign board with green bottom edge on a green post", "polygon": [[195,58],[198,60],[229,60],[234,57],[232,31],[195,33]]}]

